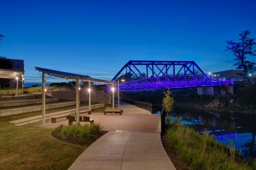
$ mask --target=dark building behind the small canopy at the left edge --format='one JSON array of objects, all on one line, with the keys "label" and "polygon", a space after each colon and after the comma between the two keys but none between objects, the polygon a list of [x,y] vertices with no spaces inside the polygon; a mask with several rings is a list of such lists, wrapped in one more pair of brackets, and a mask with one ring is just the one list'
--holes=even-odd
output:
[{"label": "dark building behind the small canopy at the left edge", "polygon": [[[0,64],[0,69],[17,70],[24,72],[24,60],[1,58],[0,62],[2,63]],[[16,87],[16,80],[9,78],[0,78],[0,85],[1,87]],[[19,81],[19,86],[22,86],[21,81]]]}]

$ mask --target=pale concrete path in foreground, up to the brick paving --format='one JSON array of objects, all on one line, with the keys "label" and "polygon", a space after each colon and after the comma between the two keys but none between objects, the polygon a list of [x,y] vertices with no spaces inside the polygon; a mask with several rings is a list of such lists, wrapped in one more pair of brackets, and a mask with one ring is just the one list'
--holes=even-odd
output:
[{"label": "pale concrete path in foreground, up to the brick paving", "polygon": [[110,131],[88,147],[70,170],[175,170],[160,133]]}]

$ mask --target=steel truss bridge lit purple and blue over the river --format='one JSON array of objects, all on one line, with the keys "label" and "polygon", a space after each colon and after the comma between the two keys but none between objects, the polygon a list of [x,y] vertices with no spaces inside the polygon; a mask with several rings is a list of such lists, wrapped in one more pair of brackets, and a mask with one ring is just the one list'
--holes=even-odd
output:
[{"label": "steel truss bridge lit purple and blue over the river", "polygon": [[188,88],[233,84],[207,76],[194,61],[129,61],[114,76],[120,91]]}]

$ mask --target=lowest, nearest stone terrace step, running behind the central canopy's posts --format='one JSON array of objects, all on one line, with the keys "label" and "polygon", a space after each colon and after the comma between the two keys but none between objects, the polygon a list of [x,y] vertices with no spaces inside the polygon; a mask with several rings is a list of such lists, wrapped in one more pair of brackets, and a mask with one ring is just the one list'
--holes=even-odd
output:
[{"label": "lowest, nearest stone terrace step, running behind the central canopy's posts", "polygon": [[[105,106],[105,104],[94,104],[91,106],[91,109],[96,109],[96,108],[100,108],[100,107],[104,107],[104,106]],[[89,106],[80,107],[80,111],[85,111],[88,109],[89,109]],[[48,113],[45,115],[45,117],[46,117],[46,119],[51,119],[51,117],[53,117],[55,115],[65,115],[65,114],[73,114],[73,113],[76,113],[76,108],[68,109],[68,110],[64,110],[64,111],[58,111],[58,112],[54,112],[54,113]],[[28,117],[28,118],[24,118],[24,119],[18,119],[18,120],[10,121],[9,123],[12,123],[16,126],[22,126],[22,125],[26,125],[28,123],[34,123],[37,121],[42,121],[42,115]]]}]

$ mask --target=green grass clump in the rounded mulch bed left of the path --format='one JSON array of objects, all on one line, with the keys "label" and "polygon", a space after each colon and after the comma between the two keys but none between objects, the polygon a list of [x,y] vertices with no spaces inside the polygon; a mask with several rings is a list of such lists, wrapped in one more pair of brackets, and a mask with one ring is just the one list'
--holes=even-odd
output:
[{"label": "green grass clump in the rounded mulch bed left of the path", "polygon": [[58,134],[64,138],[78,139],[80,142],[90,140],[91,137],[97,135],[101,127],[98,124],[90,125],[60,125],[52,130],[52,134]]}]

